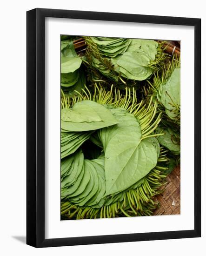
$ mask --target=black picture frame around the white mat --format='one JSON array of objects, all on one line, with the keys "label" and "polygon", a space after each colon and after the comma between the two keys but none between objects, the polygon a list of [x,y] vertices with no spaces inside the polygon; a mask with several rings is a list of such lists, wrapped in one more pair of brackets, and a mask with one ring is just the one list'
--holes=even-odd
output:
[{"label": "black picture frame around the white mat", "polygon": [[[45,18],[140,22],[194,27],[194,229],[45,239]],[[36,8],[27,12],[27,244],[53,247],[201,236],[201,20]]]}]

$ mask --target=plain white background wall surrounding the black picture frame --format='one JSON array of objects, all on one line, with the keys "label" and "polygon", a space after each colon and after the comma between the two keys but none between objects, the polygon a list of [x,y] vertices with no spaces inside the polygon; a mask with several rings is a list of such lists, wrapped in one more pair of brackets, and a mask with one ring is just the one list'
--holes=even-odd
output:
[{"label": "plain white background wall surrounding the black picture frame", "polygon": [[[34,249],[26,241],[26,11],[36,7],[202,19],[206,45],[205,1],[30,0],[3,1],[0,13],[0,253],[2,255],[205,255],[205,162],[202,160],[202,237],[151,242]],[[189,54],[189,53],[188,53]],[[202,47],[202,131],[205,129],[206,48]],[[188,125],[189,122],[188,122]],[[205,141],[202,133],[202,145]],[[189,147],[189,140],[188,140]],[[202,156],[205,151],[202,148]],[[203,158],[202,157],[202,158]]]}]

